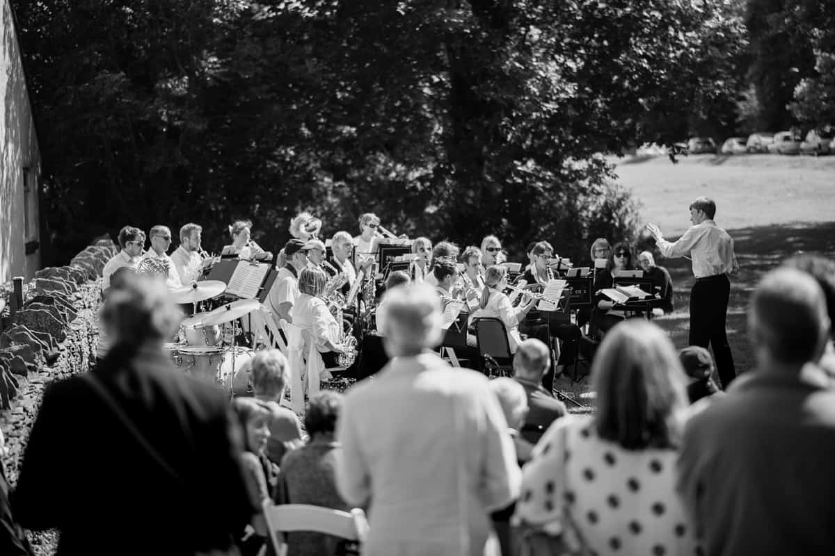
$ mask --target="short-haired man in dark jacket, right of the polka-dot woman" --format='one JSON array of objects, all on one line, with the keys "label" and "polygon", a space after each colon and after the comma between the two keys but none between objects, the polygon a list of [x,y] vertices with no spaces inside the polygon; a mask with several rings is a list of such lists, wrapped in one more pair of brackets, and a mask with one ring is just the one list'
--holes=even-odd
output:
[{"label": "short-haired man in dark jacket, right of the polka-dot woman", "polygon": [[778,268],[748,303],[756,368],[687,423],[678,489],[706,553],[832,554],[835,392],[814,278]]}]

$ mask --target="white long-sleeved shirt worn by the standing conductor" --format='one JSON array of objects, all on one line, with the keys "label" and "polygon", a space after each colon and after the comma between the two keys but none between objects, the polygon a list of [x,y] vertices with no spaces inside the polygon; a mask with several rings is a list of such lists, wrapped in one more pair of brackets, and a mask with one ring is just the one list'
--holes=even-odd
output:
[{"label": "white long-sleeved shirt worn by the standing conductor", "polygon": [[711,219],[687,228],[676,243],[659,239],[656,244],[665,257],[683,257],[690,253],[696,278],[718,274],[732,276],[739,270],[733,252],[733,238]]}]

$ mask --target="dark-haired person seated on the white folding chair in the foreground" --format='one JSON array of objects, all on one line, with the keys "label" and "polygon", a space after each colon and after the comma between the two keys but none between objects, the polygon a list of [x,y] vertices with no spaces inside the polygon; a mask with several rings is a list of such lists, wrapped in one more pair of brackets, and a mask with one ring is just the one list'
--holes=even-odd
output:
[{"label": "dark-haired person seated on the white folding chair in the foreground", "polygon": [[[337,492],[334,470],[340,452],[335,433],[340,408],[340,393],[324,390],[311,398],[305,413],[310,441],[302,448],[288,452],[281,461],[276,503],[307,503],[346,512],[351,510]],[[288,555],[335,554],[339,543],[339,538],[326,534],[291,533]]]}]

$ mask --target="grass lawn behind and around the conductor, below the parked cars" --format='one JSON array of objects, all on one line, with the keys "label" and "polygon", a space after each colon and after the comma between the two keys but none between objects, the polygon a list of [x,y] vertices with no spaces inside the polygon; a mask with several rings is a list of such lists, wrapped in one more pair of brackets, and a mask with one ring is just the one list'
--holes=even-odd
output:
[{"label": "grass lawn behind and around the conductor, below the parked cars", "polygon": [[[736,372],[750,369],[746,307],[762,274],[801,251],[835,258],[835,157],[699,155],[676,165],[665,157],[613,162],[619,162],[620,183],[640,202],[644,222],[658,223],[667,238],[677,238],[690,225],[687,207],[694,198],[706,195],[716,201],[716,223],[734,238],[740,264],[731,281],[728,339]],[[676,348],[683,348],[694,282],[690,262],[658,258],[656,263],[671,273],[676,311],[654,322],[671,335]],[[572,395],[589,388],[587,379],[558,382],[557,388]]]}]

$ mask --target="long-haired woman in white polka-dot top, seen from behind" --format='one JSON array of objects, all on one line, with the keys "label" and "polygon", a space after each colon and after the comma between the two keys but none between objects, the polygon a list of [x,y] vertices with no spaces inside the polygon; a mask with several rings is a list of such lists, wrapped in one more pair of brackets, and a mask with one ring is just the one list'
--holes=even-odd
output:
[{"label": "long-haired woman in white polka-dot top, seen from behind", "polygon": [[675,490],[687,397],[670,339],[620,323],[591,374],[595,416],[559,418],[539,440],[516,517],[553,531],[565,511],[590,554],[701,554]]}]

